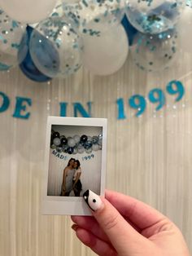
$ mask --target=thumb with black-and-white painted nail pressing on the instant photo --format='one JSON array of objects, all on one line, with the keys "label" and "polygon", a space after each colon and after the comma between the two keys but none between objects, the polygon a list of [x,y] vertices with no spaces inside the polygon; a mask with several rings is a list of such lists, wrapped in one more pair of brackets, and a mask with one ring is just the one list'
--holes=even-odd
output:
[{"label": "thumb with black-and-white painted nail pressing on the instant photo", "polygon": [[87,190],[83,197],[118,254],[137,254],[139,248],[144,248],[146,238],[140,235],[109,201],[91,190]]}]

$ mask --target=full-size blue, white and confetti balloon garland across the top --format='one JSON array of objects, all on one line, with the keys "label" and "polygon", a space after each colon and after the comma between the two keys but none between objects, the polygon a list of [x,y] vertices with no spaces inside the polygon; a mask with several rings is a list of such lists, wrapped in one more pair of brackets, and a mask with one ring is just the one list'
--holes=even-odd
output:
[{"label": "full-size blue, white and confetti balloon garland across the top", "polygon": [[0,71],[19,65],[35,82],[71,76],[81,66],[110,75],[129,52],[138,68],[157,72],[181,47],[191,53],[183,39],[191,0],[0,0],[0,7]]}]

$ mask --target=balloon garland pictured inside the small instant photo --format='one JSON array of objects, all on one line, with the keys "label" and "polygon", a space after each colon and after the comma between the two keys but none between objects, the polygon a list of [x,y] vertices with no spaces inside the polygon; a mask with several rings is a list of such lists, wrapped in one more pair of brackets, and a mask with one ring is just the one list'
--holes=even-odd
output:
[{"label": "balloon garland pictured inside the small instant photo", "polygon": [[57,152],[67,154],[82,154],[83,152],[91,153],[102,149],[103,135],[74,135],[66,137],[60,135],[58,131],[51,130],[50,148],[56,149]]}]

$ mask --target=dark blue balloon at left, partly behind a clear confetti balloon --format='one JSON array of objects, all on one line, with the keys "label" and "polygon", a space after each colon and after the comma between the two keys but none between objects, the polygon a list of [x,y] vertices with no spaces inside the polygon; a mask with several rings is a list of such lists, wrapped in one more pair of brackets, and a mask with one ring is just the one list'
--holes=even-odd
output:
[{"label": "dark blue balloon at left, partly behind a clear confetti balloon", "polygon": [[26,77],[28,77],[29,79],[35,82],[48,82],[51,80],[51,78],[46,77],[43,73],[41,73],[37,69],[29,53],[28,45],[29,45],[32,32],[33,32],[33,28],[30,26],[27,26],[27,29],[24,34],[24,38],[22,39],[22,42],[20,44],[20,49],[18,53],[19,60],[20,58],[23,58],[24,54],[26,55],[24,60],[20,64],[20,69],[22,70],[22,72],[25,74]]}]

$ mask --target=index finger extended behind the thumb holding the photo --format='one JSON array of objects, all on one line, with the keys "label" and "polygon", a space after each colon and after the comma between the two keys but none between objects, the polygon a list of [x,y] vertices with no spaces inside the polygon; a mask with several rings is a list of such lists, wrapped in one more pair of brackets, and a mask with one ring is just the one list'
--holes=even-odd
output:
[{"label": "index finger extended behind the thumb holding the photo", "polygon": [[105,197],[111,202],[111,205],[116,207],[120,214],[142,230],[166,218],[158,210],[131,196],[106,190]]}]

